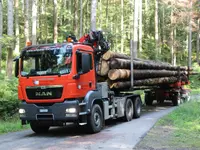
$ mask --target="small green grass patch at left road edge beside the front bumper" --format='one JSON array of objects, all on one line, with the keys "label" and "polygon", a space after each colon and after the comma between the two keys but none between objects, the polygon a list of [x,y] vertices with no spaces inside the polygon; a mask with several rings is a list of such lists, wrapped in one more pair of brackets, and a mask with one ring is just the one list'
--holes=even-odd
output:
[{"label": "small green grass patch at left road edge beside the front bumper", "polygon": [[0,134],[28,129],[29,125],[22,126],[18,115],[0,120]]}]

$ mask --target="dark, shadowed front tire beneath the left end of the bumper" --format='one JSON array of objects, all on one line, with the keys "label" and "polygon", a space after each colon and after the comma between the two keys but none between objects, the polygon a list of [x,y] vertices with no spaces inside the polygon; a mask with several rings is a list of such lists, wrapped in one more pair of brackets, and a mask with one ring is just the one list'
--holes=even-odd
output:
[{"label": "dark, shadowed front tire beneath the left end of the bumper", "polygon": [[37,134],[47,133],[50,127],[48,125],[41,125],[39,122],[36,122],[36,121],[31,121],[30,126],[31,126],[31,129]]}]

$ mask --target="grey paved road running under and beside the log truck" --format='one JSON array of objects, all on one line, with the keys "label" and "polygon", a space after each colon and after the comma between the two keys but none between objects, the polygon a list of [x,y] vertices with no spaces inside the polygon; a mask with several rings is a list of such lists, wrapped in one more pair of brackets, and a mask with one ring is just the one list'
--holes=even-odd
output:
[{"label": "grey paved road running under and beside the log truck", "polygon": [[132,150],[160,117],[175,108],[146,107],[139,119],[109,121],[100,133],[92,135],[74,125],[52,128],[44,135],[36,135],[31,130],[9,133],[0,136],[0,150]]}]

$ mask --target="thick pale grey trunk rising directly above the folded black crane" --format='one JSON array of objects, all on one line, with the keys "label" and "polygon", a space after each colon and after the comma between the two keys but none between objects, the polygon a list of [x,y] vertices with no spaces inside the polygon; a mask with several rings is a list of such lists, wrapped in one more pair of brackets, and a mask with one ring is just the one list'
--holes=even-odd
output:
[{"label": "thick pale grey trunk rising directly above the folded black crane", "polygon": [[96,30],[96,9],[97,9],[97,0],[92,0],[91,4],[91,30]]}]

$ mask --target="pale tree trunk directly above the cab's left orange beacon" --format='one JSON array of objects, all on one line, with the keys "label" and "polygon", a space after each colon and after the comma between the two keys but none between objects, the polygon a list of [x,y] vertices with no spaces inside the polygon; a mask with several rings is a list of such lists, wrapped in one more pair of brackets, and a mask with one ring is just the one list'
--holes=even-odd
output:
[{"label": "pale tree trunk directly above the cab's left orange beacon", "polygon": [[[29,0],[24,0],[24,36],[26,43],[29,39]],[[26,45],[25,43],[25,45]]]}]

